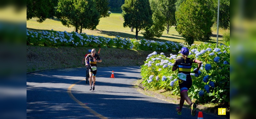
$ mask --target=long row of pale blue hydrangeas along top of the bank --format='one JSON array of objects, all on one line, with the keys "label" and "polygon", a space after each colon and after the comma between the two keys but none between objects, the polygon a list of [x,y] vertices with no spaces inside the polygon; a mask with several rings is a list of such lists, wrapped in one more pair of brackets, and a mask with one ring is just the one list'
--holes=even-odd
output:
[{"label": "long row of pale blue hydrangeas along top of the bank", "polygon": [[102,36],[87,35],[77,32],[41,31],[34,32],[27,29],[27,45],[43,46],[97,46],[116,47],[124,49],[152,50],[152,51],[179,51],[181,44],[171,41],[159,42],[154,40],[137,40],[129,38],[110,39]]}]

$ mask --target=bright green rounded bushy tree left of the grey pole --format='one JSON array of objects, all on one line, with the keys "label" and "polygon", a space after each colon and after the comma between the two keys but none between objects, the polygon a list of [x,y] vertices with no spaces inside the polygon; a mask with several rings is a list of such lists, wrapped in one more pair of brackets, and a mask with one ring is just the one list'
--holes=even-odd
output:
[{"label": "bright green rounded bushy tree left of the grey pole", "polygon": [[212,10],[205,0],[186,0],[176,11],[176,30],[189,45],[194,40],[208,41],[212,34]]}]

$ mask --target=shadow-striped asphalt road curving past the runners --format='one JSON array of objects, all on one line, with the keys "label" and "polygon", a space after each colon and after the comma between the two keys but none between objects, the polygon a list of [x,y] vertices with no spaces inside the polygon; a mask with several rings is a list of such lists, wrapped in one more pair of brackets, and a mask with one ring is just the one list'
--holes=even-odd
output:
[{"label": "shadow-striped asphalt road curving past the runners", "polygon": [[[116,78],[109,78],[112,71]],[[178,115],[172,104],[133,88],[140,67],[98,67],[95,90],[85,83],[85,68],[27,75],[27,118],[197,119],[189,108]],[[186,103],[186,102],[185,102]],[[203,112],[205,119],[219,118]]]}]

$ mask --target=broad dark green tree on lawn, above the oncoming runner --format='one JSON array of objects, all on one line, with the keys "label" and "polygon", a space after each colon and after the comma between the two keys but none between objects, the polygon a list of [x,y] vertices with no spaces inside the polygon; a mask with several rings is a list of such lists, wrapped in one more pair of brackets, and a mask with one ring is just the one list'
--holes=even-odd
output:
[{"label": "broad dark green tree on lawn, above the oncoming runner", "polygon": [[100,22],[100,13],[93,0],[59,0],[57,18],[64,26],[75,27],[75,32],[82,29],[95,29]]}]

